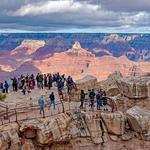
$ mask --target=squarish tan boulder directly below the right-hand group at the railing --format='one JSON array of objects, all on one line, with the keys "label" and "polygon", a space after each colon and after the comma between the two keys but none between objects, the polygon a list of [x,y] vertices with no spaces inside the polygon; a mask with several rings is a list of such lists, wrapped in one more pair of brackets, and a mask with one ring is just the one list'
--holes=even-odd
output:
[{"label": "squarish tan boulder directly below the right-hand group at the railing", "polygon": [[122,112],[101,113],[109,134],[123,135],[125,131],[125,116]]}]

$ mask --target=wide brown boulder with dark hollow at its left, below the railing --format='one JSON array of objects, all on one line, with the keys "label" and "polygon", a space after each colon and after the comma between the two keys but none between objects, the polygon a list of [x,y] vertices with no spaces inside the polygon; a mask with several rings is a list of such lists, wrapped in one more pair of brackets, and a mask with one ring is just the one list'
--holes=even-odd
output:
[{"label": "wide brown boulder with dark hollow at its left, below the railing", "polygon": [[70,119],[67,114],[60,114],[51,119],[28,120],[22,123],[20,132],[27,138],[36,138],[41,145],[67,141],[70,138],[67,130]]}]

